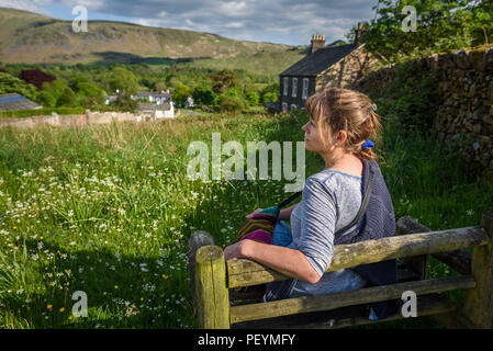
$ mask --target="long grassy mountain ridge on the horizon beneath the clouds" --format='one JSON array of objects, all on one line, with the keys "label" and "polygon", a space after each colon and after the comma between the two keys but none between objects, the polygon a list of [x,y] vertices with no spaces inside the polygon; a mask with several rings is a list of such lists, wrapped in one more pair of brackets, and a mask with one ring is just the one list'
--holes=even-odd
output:
[{"label": "long grassy mountain ridge on the horizon beneath the clouds", "polygon": [[205,68],[244,68],[278,75],[300,60],[306,47],[235,41],[210,33],[89,21],[87,33],[71,22],[0,8],[3,64],[190,63]]}]

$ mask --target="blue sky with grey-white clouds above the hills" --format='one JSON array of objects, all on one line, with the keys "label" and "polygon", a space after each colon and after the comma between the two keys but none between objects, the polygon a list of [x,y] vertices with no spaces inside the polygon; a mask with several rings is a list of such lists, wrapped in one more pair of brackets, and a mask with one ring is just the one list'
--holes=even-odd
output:
[{"label": "blue sky with grey-white clouds above the hills", "polygon": [[313,34],[326,44],[374,19],[378,0],[0,0],[0,7],[72,21],[86,7],[88,20],[219,34],[228,38],[309,45]]}]

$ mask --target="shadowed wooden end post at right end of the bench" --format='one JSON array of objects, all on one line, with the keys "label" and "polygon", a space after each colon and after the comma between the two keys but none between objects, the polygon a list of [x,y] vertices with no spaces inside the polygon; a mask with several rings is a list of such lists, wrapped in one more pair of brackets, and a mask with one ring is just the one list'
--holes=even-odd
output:
[{"label": "shadowed wooden end post at right end of the bench", "polygon": [[488,211],[481,218],[481,227],[490,242],[474,248],[471,274],[475,288],[466,295],[462,314],[477,328],[493,328],[493,212]]}]

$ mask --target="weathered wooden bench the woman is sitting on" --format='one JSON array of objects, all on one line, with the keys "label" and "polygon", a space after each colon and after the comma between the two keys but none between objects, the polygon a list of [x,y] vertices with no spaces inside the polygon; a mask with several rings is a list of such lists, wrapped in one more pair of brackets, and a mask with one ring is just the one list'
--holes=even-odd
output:
[{"label": "weathered wooden bench the woman is sitting on", "polygon": [[[492,328],[493,212],[485,212],[479,226],[439,231],[402,217],[397,233],[391,238],[336,246],[327,270],[397,259],[396,284],[264,303],[264,284],[288,278],[250,260],[225,262],[212,237],[195,231],[189,240],[189,263],[198,327],[341,328],[402,319],[399,314],[370,320],[362,307],[413,291],[418,317],[433,315],[447,328]],[[467,248],[473,248],[473,253]],[[428,279],[428,256],[459,275]],[[245,293],[236,292],[242,286],[249,287]],[[461,313],[445,294],[457,290],[466,290]]]}]

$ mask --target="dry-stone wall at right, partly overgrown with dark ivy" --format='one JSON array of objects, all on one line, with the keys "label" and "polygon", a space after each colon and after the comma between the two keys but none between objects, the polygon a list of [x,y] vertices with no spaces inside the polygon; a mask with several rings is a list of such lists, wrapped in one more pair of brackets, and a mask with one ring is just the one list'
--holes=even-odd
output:
[{"label": "dry-stone wall at right, partly overgrown with dark ivy", "polygon": [[[434,55],[410,61],[436,73],[439,102],[434,126],[441,143],[453,143],[469,167],[493,181],[493,47]],[[352,89],[371,94],[395,79],[395,67],[371,72]],[[377,93],[378,95],[378,93]]]}]

